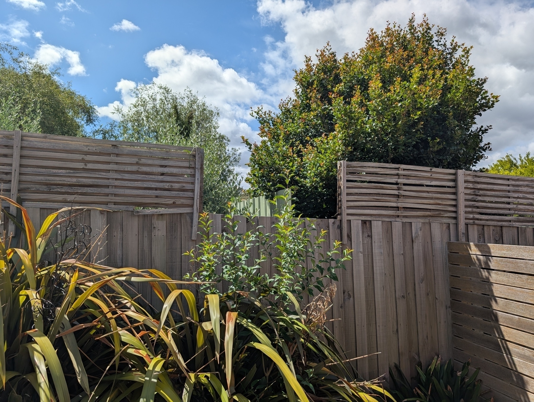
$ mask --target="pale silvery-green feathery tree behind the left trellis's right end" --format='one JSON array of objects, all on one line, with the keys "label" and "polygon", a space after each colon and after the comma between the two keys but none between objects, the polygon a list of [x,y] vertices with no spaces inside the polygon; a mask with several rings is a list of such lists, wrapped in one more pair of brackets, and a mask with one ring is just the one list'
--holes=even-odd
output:
[{"label": "pale silvery-green feathery tree behind the left trellis's right end", "polygon": [[135,100],[115,109],[119,123],[95,132],[100,138],[201,147],[204,157],[205,211],[224,214],[227,203],[241,193],[241,176],[235,171],[240,153],[218,132],[217,109],[191,90],[176,93],[166,85],[140,85]]}]

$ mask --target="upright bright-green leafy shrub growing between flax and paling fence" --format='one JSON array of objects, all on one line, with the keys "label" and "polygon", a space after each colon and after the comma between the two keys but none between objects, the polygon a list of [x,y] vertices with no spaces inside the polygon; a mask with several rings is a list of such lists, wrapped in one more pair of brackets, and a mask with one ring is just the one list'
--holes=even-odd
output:
[{"label": "upright bright-green leafy shrub growing between flax and paling fence", "polygon": [[[256,297],[272,295],[282,304],[289,301],[288,291],[302,301],[304,294],[313,296],[314,290],[316,293],[324,291],[325,280],[337,281],[336,270],[344,269],[343,262],[351,258],[352,250],[341,251],[341,241],[336,240],[331,249],[321,253],[327,231],[317,233],[311,219],[297,215],[289,194],[277,195],[271,201],[274,204],[282,201],[274,214],[272,227],[256,224],[242,234],[238,233],[239,221],[235,219],[237,209],[230,203],[223,217],[223,233],[213,233],[209,215],[201,214],[202,241],[186,253],[196,264],[196,270],[186,275],[186,279],[206,282],[200,289],[219,295],[222,293],[218,285],[225,280],[231,293],[250,291]],[[250,214],[246,219],[256,221]],[[255,247],[258,256],[253,259],[251,253]],[[276,272],[271,278],[260,275],[261,263],[268,259]]]}]

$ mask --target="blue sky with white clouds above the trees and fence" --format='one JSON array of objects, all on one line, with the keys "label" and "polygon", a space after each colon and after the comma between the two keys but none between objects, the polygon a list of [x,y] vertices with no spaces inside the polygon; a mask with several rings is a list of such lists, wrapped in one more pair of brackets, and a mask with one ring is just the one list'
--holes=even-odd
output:
[{"label": "blue sky with white clouds above the trees and fence", "polygon": [[0,40],[60,67],[103,120],[113,105],[128,106],[137,85],[189,86],[219,108],[221,132],[240,146],[241,135],[257,139],[250,107],[276,108],[305,54],[327,41],[339,54],[357,50],[369,28],[404,23],[412,12],[474,45],[477,74],[501,95],[480,119],[493,125],[485,164],[534,151],[532,2],[0,0]]}]

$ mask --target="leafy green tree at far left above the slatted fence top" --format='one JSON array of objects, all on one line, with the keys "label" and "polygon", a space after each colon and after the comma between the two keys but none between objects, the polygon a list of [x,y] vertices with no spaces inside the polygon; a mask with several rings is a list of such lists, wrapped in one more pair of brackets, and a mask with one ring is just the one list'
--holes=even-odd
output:
[{"label": "leafy green tree at far left above the slatted fence top", "polygon": [[95,105],[61,81],[59,70],[50,70],[9,44],[0,44],[0,53],[0,100],[14,105],[21,119],[35,120],[38,109],[38,131],[80,137],[98,121]]}]

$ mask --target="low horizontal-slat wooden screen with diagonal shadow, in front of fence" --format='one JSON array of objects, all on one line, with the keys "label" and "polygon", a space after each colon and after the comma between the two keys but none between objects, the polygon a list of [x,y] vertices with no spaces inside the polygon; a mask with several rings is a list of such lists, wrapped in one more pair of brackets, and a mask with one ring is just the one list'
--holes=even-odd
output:
[{"label": "low horizontal-slat wooden screen with diagonal shadow, in front of fence", "polygon": [[534,400],[534,248],[451,242],[448,258],[454,359],[496,401]]}]

